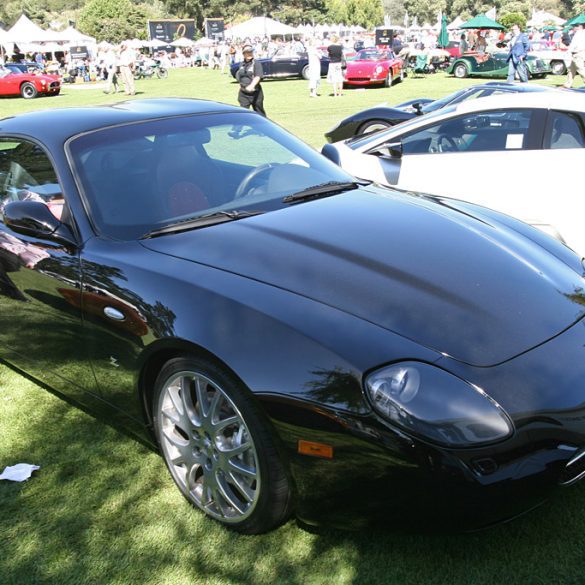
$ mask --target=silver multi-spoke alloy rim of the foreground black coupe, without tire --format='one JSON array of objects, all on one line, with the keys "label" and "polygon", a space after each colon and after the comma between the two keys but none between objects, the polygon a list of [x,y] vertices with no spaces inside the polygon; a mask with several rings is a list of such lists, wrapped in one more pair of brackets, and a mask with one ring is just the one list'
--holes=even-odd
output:
[{"label": "silver multi-spoke alloy rim of the foreground black coupe, without tire", "polygon": [[226,392],[202,374],[177,372],[162,388],[157,421],[163,455],[187,497],[222,522],[250,516],[261,489],[258,455]]}]

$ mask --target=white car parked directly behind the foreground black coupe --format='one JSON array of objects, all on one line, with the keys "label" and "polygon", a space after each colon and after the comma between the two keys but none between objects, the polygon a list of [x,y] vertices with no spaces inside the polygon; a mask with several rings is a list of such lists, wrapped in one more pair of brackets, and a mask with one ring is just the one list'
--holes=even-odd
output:
[{"label": "white car parked directly behind the foreground black coupe", "polygon": [[585,256],[585,99],[579,92],[465,101],[326,144],[322,152],[362,179],[506,213]]}]

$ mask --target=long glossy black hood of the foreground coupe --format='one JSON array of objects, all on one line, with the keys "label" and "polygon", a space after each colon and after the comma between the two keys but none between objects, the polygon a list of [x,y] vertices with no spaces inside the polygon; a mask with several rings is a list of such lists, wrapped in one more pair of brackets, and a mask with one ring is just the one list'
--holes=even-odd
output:
[{"label": "long glossy black hood of the foreground coupe", "polygon": [[456,205],[368,187],[142,243],[477,366],[511,359],[583,316],[579,273]]}]

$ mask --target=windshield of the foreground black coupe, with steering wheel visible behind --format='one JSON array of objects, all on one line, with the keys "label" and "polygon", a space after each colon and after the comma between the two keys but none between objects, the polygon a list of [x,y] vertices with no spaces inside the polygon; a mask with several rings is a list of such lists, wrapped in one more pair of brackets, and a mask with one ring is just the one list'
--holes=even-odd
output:
[{"label": "windshield of the foreground black coupe, with steering wheel visible behind", "polygon": [[218,212],[273,211],[303,189],[353,180],[248,112],[101,129],[67,149],[95,229],[121,240]]}]

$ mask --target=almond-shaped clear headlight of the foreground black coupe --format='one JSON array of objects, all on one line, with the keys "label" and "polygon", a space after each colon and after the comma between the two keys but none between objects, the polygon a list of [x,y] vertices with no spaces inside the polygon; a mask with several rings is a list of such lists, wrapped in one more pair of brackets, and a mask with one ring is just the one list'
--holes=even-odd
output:
[{"label": "almond-shaped clear headlight of the foreground black coupe", "polygon": [[449,447],[493,443],[514,431],[502,407],[483,390],[429,364],[382,368],[366,378],[366,390],[382,417]]}]

